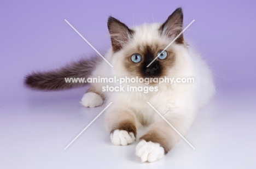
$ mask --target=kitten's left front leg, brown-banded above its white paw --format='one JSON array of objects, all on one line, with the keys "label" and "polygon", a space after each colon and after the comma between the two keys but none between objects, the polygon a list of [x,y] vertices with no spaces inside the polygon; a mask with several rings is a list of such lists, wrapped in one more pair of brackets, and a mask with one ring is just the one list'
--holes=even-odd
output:
[{"label": "kitten's left front leg, brown-banded above its white paw", "polygon": [[107,112],[107,126],[110,140],[116,146],[126,146],[136,139],[136,122],[133,112],[116,109]]}]

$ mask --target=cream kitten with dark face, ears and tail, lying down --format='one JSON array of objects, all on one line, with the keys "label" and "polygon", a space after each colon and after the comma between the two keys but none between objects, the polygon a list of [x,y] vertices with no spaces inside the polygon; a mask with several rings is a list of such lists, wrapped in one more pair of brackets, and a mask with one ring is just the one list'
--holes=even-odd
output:
[{"label": "cream kitten with dark face, ears and tail, lying down", "polygon": [[[142,162],[164,158],[182,137],[147,103],[149,102],[183,136],[188,132],[196,112],[215,93],[213,77],[200,55],[184,41],[181,34],[165,51],[165,47],[182,32],[183,11],[177,8],[160,23],[144,23],[133,28],[112,16],[108,18],[111,49],[104,57],[81,59],[56,71],[34,72],[25,77],[25,85],[41,90],[59,90],[90,85],[82,98],[85,107],[108,105],[106,125],[114,145],[126,146],[136,140],[137,129],[147,132],[136,146]],[[159,55],[161,53],[161,55]],[[159,57],[155,59],[157,56]],[[153,59],[155,61],[150,64]],[[150,64],[150,65],[149,65]],[[149,67],[147,67],[149,65]],[[193,77],[194,83],[126,82],[127,86],[153,86],[157,92],[102,92],[106,85],[119,83],[66,83],[67,77]]]}]

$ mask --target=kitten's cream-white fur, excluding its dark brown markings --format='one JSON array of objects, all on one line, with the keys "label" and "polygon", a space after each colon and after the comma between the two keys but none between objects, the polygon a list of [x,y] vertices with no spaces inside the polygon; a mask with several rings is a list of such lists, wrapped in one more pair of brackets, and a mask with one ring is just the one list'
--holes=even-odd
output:
[{"label": "kitten's cream-white fur, excluding its dark brown markings", "polygon": [[[132,73],[127,72],[123,65],[125,51],[132,49],[136,45],[154,45],[154,43],[168,45],[172,41],[172,39],[159,35],[159,26],[160,24],[153,23],[132,28],[135,30],[133,40],[129,41],[124,46],[124,49],[115,53],[109,50],[104,56],[114,68],[102,61],[92,74],[92,77],[132,77]],[[143,120],[148,124],[149,131],[158,131],[162,137],[168,140],[168,146],[172,148],[181,140],[181,137],[147,104],[147,102],[150,102],[174,128],[185,136],[196,116],[196,112],[212,98],[215,88],[211,71],[191,46],[187,44],[172,44],[170,48],[176,53],[176,61],[174,66],[168,70],[168,76],[194,77],[195,83],[161,84],[158,85],[158,92],[149,92],[147,94],[143,92],[101,93],[106,97],[106,105],[109,102],[113,102],[106,110],[106,124],[109,132],[112,131],[113,125],[119,120],[134,119],[137,128],[142,126],[141,121]],[[94,83],[92,85],[95,89],[101,90],[102,86],[107,84]],[[110,85],[119,86],[119,84]],[[133,85],[143,86],[142,83]],[[94,99],[96,98],[94,97]],[[86,98],[83,98],[83,100],[86,100]],[[101,101],[96,100],[95,104],[86,103],[85,105],[89,107],[91,105],[97,106],[99,102]],[[126,114],[122,114],[123,112],[126,112]],[[127,112],[130,113],[129,116],[126,116]],[[124,137],[126,136],[127,138],[125,139]],[[115,145],[126,145],[134,141],[128,132],[114,131],[110,137]],[[149,155],[149,152],[152,152],[152,155]],[[163,149],[158,143],[149,143],[144,140],[138,143],[136,155],[143,162],[153,162],[164,156]]]}]

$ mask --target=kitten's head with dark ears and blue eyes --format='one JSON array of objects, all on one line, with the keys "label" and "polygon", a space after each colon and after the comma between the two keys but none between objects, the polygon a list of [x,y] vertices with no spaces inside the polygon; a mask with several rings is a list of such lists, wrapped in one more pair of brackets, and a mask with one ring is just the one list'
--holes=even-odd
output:
[{"label": "kitten's head with dark ears and blue eyes", "polygon": [[[168,70],[176,62],[175,46],[184,45],[183,34],[179,35],[182,26],[181,8],[177,8],[162,24],[143,24],[131,29],[110,16],[108,29],[114,70],[123,76],[167,76]],[[173,40],[174,43],[168,46]]]}]

